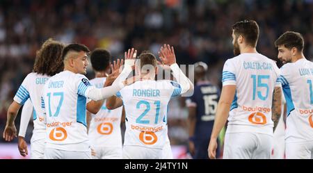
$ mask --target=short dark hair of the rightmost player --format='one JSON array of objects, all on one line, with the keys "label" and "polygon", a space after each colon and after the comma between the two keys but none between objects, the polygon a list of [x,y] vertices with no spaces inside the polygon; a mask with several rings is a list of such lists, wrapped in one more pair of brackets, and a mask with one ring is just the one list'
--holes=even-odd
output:
[{"label": "short dark hair of the rightmost player", "polygon": [[300,33],[296,33],[293,31],[287,31],[280,35],[280,37],[275,41],[275,47],[284,45],[287,49],[291,49],[296,47],[298,51],[303,51],[304,48],[304,40],[303,36]]}]

